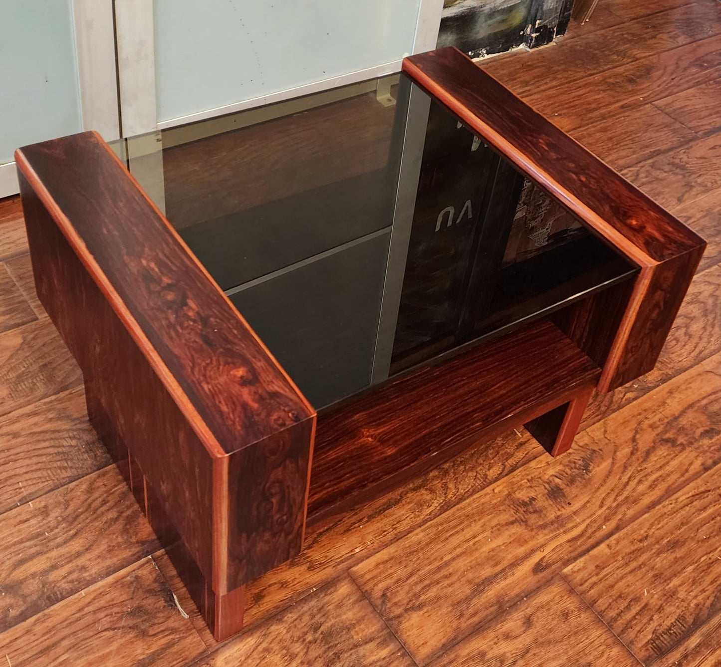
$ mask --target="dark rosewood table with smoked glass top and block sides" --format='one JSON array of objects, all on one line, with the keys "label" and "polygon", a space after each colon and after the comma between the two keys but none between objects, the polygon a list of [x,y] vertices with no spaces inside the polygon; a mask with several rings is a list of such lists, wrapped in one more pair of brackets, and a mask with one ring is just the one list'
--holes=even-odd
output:
[{"label": "dark rosewood table with smoked glass top and block sides", "polygon": [[451,48],[16,158],[89,418],[218,640],[309,524],[521,424],[566,451],[705,246]]}]

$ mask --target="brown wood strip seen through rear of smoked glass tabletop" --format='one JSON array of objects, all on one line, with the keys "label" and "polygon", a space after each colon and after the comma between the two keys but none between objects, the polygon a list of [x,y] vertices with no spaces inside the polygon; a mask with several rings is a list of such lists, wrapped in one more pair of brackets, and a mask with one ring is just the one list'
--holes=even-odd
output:
[{"label": "brown wood strip seen through rear of smoked glass tabletop", "polygon": [[181,228],[380,169],[393,118],[366,94],[164,149],[167,217]]}]

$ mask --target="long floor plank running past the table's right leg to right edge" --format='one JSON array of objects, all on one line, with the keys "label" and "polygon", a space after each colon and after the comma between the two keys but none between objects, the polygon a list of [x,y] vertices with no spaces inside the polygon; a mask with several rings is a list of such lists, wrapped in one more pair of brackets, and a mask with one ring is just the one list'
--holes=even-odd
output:
[{"label": "long floor plank running past the table's right leg to right edge", "polygon": [[569,454],[531,461],[355,566],[415,661],[441,655],[719,464],[720,363],[715,355],[580,433]]}]

